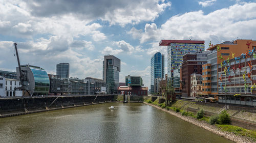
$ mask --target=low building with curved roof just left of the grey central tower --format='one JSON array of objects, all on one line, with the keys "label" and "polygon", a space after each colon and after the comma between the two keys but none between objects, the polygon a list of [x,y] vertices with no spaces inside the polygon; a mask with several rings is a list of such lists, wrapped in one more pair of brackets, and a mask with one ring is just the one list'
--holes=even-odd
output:
[{"label": "low building with curved roof just left of the grey central tower", "polygon": [[[89,87],[88,92],[86,92],[86,95],[93,95],[106,92],[106,83],[102,79],[87,77],[84,79],[84,82],[90,83],[88,84]],[[93,84],[93,86],[91,86],[91,84]]]}]

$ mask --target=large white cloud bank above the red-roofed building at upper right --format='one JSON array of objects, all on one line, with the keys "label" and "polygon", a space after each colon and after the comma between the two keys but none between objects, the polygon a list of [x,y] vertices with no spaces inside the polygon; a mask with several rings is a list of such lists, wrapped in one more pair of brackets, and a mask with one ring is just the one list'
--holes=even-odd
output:
[{"label": "large white cloud bank above the red-roofed building at upper right", "polygon": [[152,23],[145,25],[144,33],[136,28],[132,28],[128,33],[141,43],[151,41],[152,48],[149,48],[147,53],[152,54],[152,50],[155,52],[156,49],[161,49],[157,47],[161,39],[205,40],[205,43],[210,40],[214,43],[230,41],[237,37],[256,39],[255,18],[256,3],[235,4],[208,14],[199,10],[175,15],[157,29]]}]

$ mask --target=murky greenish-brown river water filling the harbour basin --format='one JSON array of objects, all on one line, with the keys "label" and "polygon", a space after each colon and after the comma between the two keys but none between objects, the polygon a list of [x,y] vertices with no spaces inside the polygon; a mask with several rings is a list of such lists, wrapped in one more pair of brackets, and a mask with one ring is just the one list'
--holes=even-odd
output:
[{"label": "murky greenish-brown river water filling the harbour basin", "polygon": [[143,103],[104,103],[2,118],[0,142],[232,141]]}]

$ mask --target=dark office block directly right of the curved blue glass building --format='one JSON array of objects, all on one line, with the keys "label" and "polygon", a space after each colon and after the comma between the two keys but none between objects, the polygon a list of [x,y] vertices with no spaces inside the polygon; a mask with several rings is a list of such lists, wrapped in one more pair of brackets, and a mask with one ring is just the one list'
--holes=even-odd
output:
[{"label": "dark office block directly right of the curved blue glass building", "polygon": [[60,76],[54,74],[48,74],[50,80],[50,95],[60,95]]}]

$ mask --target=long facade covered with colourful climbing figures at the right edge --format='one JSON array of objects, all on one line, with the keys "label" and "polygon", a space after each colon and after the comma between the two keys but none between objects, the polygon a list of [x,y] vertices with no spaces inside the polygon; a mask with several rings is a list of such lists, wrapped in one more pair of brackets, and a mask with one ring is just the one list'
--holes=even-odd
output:
[{"label": "long facade covered with colourful climbing figures at the right edge", "polygon": [[234,59],[218,64],[220,103],[256,106],[256,44]]}]

